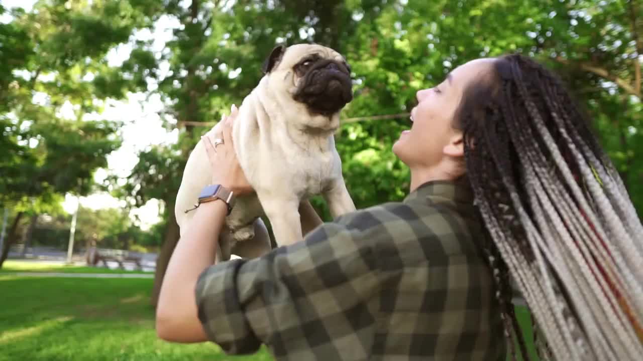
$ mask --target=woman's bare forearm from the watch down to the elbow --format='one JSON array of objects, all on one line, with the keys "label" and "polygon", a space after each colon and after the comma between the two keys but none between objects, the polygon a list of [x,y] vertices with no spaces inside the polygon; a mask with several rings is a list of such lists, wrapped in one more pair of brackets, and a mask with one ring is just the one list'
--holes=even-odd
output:
[{"label": "woman's bare forearm from the watch down to the elbow", "polygon": [[172,342],[206,340],[197,317],[195,287],[215,260],[217,240],[228,208],[221,200],[201,204],[168,263],[156,308],[156,331]]}]

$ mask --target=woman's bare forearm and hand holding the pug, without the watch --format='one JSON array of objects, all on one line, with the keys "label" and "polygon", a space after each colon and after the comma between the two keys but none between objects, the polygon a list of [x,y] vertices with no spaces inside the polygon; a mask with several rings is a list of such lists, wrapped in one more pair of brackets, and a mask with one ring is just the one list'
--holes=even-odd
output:
[{"label": "woman's bare forearm and hand holding the pug, without the watch", "polygon": [[[212,184],[221,184],[236,195],[252,191],[237,161],[231,137],[232,121],[237,115],[233,106],[230,117],[223,119],[201,137],[215,176]],[[215,138],[223,143],[215,147]],[[183,237],[176,245],[168,263],[156,307],[156,333],[161,339],[174,342],[201,342],[206,340],[197,318],[194,289],[199,274],[215,260],[217,240],[223,227],[228,207],[222,200],[201,204],[194,218],[186,226]],[[185,226],[184,226],[185,227]]]}]

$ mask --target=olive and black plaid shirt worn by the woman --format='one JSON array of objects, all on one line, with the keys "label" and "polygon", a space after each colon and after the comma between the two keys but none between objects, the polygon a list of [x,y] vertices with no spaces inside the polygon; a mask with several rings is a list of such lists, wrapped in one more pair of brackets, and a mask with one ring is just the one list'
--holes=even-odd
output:
[{"label": "olive and black plaid shirt worn by the woman", "polygon": [[204,270],[208,339],[277,360],[502,360],[505,338],[464,182],[338,217],[253,260]]}]

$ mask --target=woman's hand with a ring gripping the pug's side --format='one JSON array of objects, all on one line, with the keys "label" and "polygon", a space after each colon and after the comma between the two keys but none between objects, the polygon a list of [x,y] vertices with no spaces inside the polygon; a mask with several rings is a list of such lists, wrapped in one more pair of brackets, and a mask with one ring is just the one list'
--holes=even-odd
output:
[{"label": "woman's hand with a ring gripping the pug's side", "polygon": [[232,140],[232,123],[239,110],[232,105],[230,116],[221,119],[209,132],[201,137],[208,152],[212,167],[212,184],[221,184],[236,195],[252,193],[252,186],[244,175]]}]

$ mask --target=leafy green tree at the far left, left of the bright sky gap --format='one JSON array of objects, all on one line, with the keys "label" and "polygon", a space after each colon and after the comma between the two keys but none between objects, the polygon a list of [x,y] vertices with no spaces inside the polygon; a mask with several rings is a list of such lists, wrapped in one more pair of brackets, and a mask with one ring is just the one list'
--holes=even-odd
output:
[{"label": "leafy green tree at the far left, left of the bright sky gap", "polygon": [[[152,3],[39,1],[0,26],[0,204],[17,210],[14,225],[35,211],[30,204],[93,189],[93,172],[120,145],[120,125],[100,120],[100,100],[123,95],[122,84],[105,86],[94,73],[110,73],[105,54],[149,24]],[[0,267],[14,240],[11,227]]]}]

